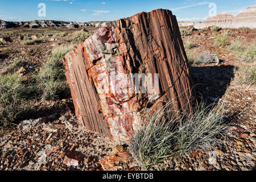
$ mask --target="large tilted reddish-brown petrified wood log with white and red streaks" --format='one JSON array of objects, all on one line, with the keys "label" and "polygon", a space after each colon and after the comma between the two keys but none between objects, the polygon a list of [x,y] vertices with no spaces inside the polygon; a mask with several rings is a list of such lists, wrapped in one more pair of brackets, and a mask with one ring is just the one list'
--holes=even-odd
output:
[{"label": "large tilted reddish-brown petrified wood log with white and red streaks", "polygon": [[[79,122],[120,143],[129,142],[135,128],[143,125],[139,114],[144,108],[158,108],[167,101],[180,111],[197,105],[170,10],[111,22],[63,61]],[[136,79],[142,84],[138,86]]]}]

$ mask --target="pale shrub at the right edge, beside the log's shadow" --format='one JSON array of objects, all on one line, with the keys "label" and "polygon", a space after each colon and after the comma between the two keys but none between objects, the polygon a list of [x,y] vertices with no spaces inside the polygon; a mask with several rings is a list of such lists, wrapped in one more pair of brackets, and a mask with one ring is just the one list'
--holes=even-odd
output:
[{"label": "pale shrub at the right edge, beside the log's shadow", "polygon": [[234,80],[238,84],[256,85],[256,63],[249,67],[235,68]]}]

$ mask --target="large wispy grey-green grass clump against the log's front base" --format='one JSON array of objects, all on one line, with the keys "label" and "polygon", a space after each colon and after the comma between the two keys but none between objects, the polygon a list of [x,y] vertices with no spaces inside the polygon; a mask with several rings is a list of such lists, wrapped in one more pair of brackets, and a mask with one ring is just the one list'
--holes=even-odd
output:
[{"label": "large wispy grey-green grass clump against the log's front base", "polygon": [[139,127],[131,137],[131,151],[144,169],[168,156],[212,149],[219,142],[218,137],[224,135],[224,104],[214,109],[201,104],[193,114],[167,110],[168,106],[170,103],[152,115],[145,112],[142,122],[147,125]]}]

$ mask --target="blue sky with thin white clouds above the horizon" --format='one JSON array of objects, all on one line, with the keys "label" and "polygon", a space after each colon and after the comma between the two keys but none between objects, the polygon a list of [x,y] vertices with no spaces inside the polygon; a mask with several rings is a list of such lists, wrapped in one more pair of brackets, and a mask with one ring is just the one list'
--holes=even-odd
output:
[{"label": "blue sky with thin white clouds above the horizon", "polygon": [[[46,16],[39,17],[39,3],[46,5]],[[35,19],[89,22],[116,20],[141,11],[162,8],[172,10],[178,21],[203,21],[209,17],[210,3],[216,4],[216,12],[239,14],[255,5],[255,0],[0,0],[0,19],[27,21]]]}]

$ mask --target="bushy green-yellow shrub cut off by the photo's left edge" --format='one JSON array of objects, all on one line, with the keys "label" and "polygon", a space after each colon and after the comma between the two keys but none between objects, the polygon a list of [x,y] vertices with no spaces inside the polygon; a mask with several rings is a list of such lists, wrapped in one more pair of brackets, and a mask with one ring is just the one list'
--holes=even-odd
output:
[{"label": "bushy green-yellow shrub cut off by the photo's left edge", "polygon": [[22,78],[14,75],[0,75],[0,123],[14,123],[28,110],[27,87]]}]

